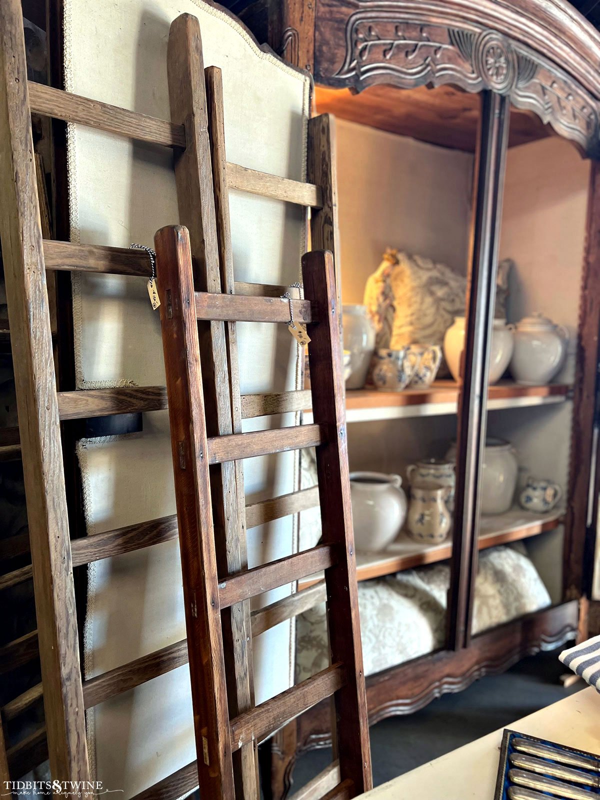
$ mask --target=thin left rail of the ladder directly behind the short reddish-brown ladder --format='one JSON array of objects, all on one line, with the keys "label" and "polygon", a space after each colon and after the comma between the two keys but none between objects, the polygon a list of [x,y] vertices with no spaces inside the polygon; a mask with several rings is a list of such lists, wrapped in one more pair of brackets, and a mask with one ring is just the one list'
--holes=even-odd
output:
[{"label": "thin left rail of the ladder directly behind the short reddish-brown ladder", "polygon": [[[227,159],[225,149],[225,117],[221,70],[208,67],[206,78],[206,118],[210,138],[210,155],[213,170],[214,213],[217,226],[218,262],[222,290],[234,294],[234,255],[231,245],[229,193],[227,190]],[[238,359],[238,333],[235,322],[224,326],[226,342],[226,371],[229,378],[230,424],[219,433],[242,433],[242,402]],[[236,493],[235,508],[224,509],[225,536],[221,554],[217,550],[217,566],[222,574],[233,574],[248,566],[246,548],[246,506],[244,493],[244,465],[234,462],[233,478]],[[223,467],[225,469],[225,467]],[[231,514],[231,516],[229,516]],[[233,517],[233,514],[236,516]],[[252,637],[250,634],[250,602],[244,601],[222,613],[230,715],[241,714],[254,706],[254,666]],[[236,791],[246,797],[258,794],[258,748],[243,747],[234,754]]]}]

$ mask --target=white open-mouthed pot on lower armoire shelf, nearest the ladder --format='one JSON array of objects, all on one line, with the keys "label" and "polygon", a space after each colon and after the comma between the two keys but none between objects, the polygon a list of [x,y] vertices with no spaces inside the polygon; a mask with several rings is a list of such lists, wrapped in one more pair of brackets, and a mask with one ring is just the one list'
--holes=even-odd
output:
[{"label": "white open-mouthed pot on lower armoire shelf, nearest the ladder", "polygon": [[406,494],[399,475],[350,473],[354,546],[376,553],[394,542],[406,519]]}]

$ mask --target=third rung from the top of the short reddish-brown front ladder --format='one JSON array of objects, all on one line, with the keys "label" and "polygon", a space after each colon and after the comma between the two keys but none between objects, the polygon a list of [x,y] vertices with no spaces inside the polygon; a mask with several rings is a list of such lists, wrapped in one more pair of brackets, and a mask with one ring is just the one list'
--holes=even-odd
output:
[{"label": "third rung from the top of the short reddish-brown front ladder", "polygon": [[246,572],[238,572],[218,583],[218,600],[221,608],[234,606],[257,594],[285,586],[306,575],[326,570],[334,564],[334,546],[317,545],[302,553],[278,558],[277,561],[254,566]]}]

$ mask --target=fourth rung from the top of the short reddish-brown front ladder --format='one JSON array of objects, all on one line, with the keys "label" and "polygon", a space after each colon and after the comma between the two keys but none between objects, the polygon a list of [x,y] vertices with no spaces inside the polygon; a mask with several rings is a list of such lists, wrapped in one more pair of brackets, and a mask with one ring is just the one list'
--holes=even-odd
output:
[{"label": "fourth rung from the top of the short reddish-brown front ladder", "polygon": [[346,686],[346,667],[332,664],[306,681],[240,714],[230,724],[231,751],[248,742],[262,742],[290,719],[304,714],[318,702]]}]

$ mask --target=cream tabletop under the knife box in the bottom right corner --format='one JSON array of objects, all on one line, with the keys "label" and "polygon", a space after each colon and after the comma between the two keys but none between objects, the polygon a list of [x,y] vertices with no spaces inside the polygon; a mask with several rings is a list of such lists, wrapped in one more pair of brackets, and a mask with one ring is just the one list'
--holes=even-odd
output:
[{"label": "cream tabletop under the knife box in the bottom right corner", "polygon": [[[600,754],[600,694],[589,687],[506,727]],[[502,729],[377,789],[368,800],[493,800]]]}]

